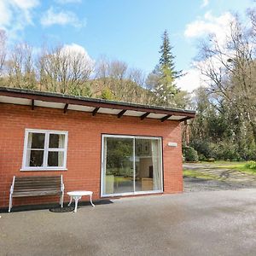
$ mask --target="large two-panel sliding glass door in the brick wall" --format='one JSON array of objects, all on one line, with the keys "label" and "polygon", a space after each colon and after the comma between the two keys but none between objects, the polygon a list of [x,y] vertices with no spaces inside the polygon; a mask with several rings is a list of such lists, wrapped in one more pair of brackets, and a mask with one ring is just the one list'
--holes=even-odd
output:
[{"label": "large two-panel sliding glass door in the brick wall", "polygon": [[102,196],[162,191],[159,137],[102,136]]}]

